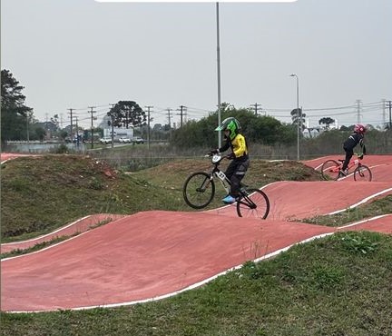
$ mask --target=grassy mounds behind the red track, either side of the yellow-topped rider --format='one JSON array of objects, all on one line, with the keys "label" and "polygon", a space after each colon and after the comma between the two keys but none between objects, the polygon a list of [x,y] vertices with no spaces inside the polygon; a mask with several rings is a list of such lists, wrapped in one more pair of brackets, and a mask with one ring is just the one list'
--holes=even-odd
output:
[{"label": "grassy mounds behind the red track, either side of the yellow-topped rider", "polygon": [[[10,160],[1,174],[3,242],[51,232],[93,213],[192,211],[183,202],[182,183],[190,173],[210,169],[209,160],[173,161],[137,173],[80,155]],[[261,187],[280,180],[319,181],[320,176],[302,163],[253,160],[244,182]],[[211,208],[221,204],[223,190],[218,192]]]}]

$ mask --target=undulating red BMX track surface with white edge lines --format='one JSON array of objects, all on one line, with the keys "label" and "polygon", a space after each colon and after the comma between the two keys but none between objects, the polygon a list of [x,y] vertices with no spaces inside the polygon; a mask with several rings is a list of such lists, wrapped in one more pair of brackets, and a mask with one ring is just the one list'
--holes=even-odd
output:
[{"label": "undulating red BMX track surface with white edge lines", "polygon": [[[328,158],[304,163],[317,168]],[[40,252],[3,260],[1,310],[55,311],[149,301],[319,235],[341,230],[392,234],[392,214],[344,228],[287,222],[392,194],[392,155],[368,155],[363,163],[372,170],[370,183],[355,182],[351,176],[338,182],[267,185],[263,190],[271,209],[265,221],[239,218],[234,206],[226,206],[209,212],[96,215],[83,220],[88,223],[68,224],[62,234],[113,219]],[[25,248],[37,242],[24,243]],[[14,248],[15,244],[4,244],[2,252]]]}]

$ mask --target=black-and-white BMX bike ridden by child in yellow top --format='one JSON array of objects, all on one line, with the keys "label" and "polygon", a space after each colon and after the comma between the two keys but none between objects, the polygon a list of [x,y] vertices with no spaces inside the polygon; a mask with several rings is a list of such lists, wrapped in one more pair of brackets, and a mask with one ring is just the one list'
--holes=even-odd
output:
[{"label": "black-and-white BMX bike ridden by child in yellow top", "polygon": [[[185,203],[193,209],[202,209],[211,203],[215,196],[215,178],[220,181],[225,191],[228,194],[230,193],[230,180],[219,167],[225,156],[220,154],[205,156],[211,157],[211,163],[213,164],[211,173],[191,173],[182,189]],[[260,189],[248,189],[248,186],[243,183],[240,184],[240,193],[236,198],[236,203],[239,217],[266,219],[270,212],[270,200],[267,194]]]}]

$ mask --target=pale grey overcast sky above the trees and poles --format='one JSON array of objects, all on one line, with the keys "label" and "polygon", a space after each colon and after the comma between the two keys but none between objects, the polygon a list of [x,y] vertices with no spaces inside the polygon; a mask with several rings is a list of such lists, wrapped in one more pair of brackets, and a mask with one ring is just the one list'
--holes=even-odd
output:
[{"label": "pale grey overcast sky above the trees and poles", "polygon": [[[298,0],[220,3],[221,102],[258,104],[290,122],[299,106],[318,125],[381,124],[392,99],[392,1]],[[199,119],[218,104],[216,3],[2,0],[1,68],[25,89],[40,121],[89,126],[120,100],[152,124]],[[261,110],[260,110],[261,109]]]}]

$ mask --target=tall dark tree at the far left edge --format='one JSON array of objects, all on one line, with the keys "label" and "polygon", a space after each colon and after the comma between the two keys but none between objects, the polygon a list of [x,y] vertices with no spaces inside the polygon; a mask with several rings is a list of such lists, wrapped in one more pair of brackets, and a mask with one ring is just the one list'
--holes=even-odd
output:
[{"label": "tall dark tree at the far left edge", "polygon": [[27,137],[27,124],[32,116],[32,108],[25,106],[24,86],[19,85],[9,70],[1,71],[1,143]]}]

